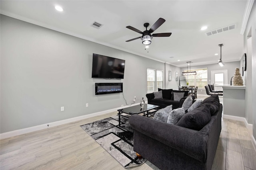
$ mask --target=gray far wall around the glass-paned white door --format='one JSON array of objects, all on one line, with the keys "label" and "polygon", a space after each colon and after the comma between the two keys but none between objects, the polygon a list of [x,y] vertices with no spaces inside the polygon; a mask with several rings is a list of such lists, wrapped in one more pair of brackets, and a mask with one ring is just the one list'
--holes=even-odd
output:
[{"label": "gray far wall around the glass-paned white door", "polygon": [[[225,56],[223,56],[223,58],[225,58]],[[222,58],[222,59],[223,59]],[[230,79],[232,76],[234,76],[235,74],[235,69],[238,67],[240,68],[240,61],[234,61],[234,62],[228,62],[228,63],[224,63],[224,66],[219,66],[218,61],[216,60],[216,64],[206,64],[206,65],[199,65],[199,66],[191,66],[191,69],[196,69],[196,68],[207,68],[207,77],[208,77],[208,84],[212,84],[212,71],[216,71],[216,70],[228,70],[228,84],[230,84]],[[187,67],[182,67],[181,71],[183,70],[187,70]],[[206,94],[206,90],[205,88],[200,89],[198,88],[197,94]]]}]

